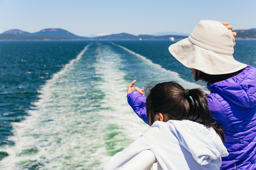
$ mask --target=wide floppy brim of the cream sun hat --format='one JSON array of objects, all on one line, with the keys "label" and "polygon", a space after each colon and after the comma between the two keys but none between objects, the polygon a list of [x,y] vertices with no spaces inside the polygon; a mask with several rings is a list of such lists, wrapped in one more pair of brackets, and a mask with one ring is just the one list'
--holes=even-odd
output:
[{"label": "wide floppy brim of the cream sun hat", "polygon": [[206,74],[234,73],[247,66],[234,60],[233,55],[220,54],[199,47],[191,43],[188,38],[172,44],[169,47],[169,52],[184,66]]}]

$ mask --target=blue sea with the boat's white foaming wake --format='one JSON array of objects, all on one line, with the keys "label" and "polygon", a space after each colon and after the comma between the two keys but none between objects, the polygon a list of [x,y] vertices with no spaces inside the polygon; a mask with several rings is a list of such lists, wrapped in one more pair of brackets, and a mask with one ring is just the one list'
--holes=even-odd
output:
[{"label": "blue sea with the boat's white foaming wake", "polygon": [[[134,79],[195,83],[172,41],[0,41],[0,169],[102,169],[149,129],[127,104]],[[234,57],[256,66],[256,40]]]}]

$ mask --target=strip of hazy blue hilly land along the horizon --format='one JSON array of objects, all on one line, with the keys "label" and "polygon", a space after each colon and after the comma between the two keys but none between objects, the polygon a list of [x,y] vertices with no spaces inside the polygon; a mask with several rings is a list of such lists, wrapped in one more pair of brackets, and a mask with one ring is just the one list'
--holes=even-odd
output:
[{"label": "strip of hazy blue hilly land along the horizon", "polygon": [[[234,30],[237,32],[236,39],[256,39],[256,28],[250,30]],[[139,35],[134,36],[129,33],[118,33],[108,36],[99,37],[81,37],[76,36],[59,28],[43,29],[39,32],[30,33],[18,29],[5,31],[0,34],[0,40],[17,41],[17,40],[181,40],[188,36],[179,35],[166,35],[166,36],[153,36],[153,35]]]}]

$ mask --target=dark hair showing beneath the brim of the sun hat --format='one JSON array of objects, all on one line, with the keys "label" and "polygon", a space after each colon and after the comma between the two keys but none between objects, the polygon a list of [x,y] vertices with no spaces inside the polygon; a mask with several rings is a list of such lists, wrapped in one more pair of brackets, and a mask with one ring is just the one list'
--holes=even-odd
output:
[{"label": "dark hair showing beneath the brim of the sun hat", "polygon": [[202,71],[196,70],[196,80],[195,81],[205,81],[207,84],[209,83],[215,83],[223,80],[227,80],[231,77],[236,76],[237,74],[241,73],[244,69],[239,70],[234,73],[229,73],[229,74],[218,74],[218,75],[212,75],[212,74],[206,74]]}]

